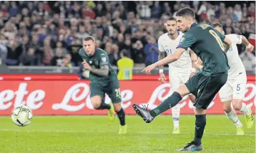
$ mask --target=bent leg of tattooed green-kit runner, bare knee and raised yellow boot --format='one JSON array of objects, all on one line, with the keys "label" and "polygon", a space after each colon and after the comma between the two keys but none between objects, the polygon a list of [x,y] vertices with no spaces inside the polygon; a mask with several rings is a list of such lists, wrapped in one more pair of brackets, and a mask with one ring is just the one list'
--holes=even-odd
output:
[{"label": "bent leg of tattooed green-kit runner, bare knee and raised yellow boot", "polygon": [[106,104],[105,102],[102,102],[102,97],[99,95],[94,95],[91,97],[92,106],[96,110],[105,110],[107,109],[109,112],[109,119],[114,120],[114,108],[112,106],[112,103]]}]

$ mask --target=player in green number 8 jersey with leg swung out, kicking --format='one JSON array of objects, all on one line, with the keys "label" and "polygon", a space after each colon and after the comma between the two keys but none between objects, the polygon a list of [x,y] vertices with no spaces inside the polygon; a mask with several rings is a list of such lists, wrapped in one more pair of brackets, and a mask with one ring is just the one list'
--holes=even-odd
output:
[{"label": "player in green number 8 jersey with leg swung out, kicking", "polygon": [[149,123],[157,115],[177,105],[182,97],[192,93],[196,97],[194,104],[196,107],[195,137],[192,142],[186,144],[179,151],[200,151],[202,150],[201,139],[206,125],[206,109],[227,81],[227,70],[230,67],[227,64],[225,51],[230,48],[231,41],[212,26],[195,23],[195,13],[192,9],[181,9],[177,11],[176,16],[177,27],[180,31],[186,32],[184,33],[184,40],[179,43],[174,53],[157,63],[147,66],[143,72],[150,74],[154,68],[178,60],[187,48],[191,48],[202,59],[204,67],[200,73],[196,73],[192,78],[189,78],[187,83],[179,86],[176,92],[153,110],[145,110],[136,104],[133,104],[132,107],[145,122]]}]

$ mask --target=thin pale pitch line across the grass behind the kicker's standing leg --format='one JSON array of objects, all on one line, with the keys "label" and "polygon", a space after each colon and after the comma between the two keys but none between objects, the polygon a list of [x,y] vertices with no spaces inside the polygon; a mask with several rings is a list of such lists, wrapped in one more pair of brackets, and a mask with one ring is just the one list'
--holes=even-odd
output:
[{"label": "thin pale pitch line across the grass behind the kicker's standing leg", "polygon": [[[9,129],[0,129],[0,131],[6,132],[56,132],[56,133],[94,133],[88,131],[74,131],[74,130],[9,130]],[[98,133],[109,133],[105,131],[97,131]],[[172,133],[159,133],[159,132],[130,132],[129,134],[172,134]],[[184,134],[192,134],[192,133],[181,133]],[[206,135],[236,135],[235,133],[208,133],[205,132]],[[244,136],[255,137],[256,134],[245,134]]]}]

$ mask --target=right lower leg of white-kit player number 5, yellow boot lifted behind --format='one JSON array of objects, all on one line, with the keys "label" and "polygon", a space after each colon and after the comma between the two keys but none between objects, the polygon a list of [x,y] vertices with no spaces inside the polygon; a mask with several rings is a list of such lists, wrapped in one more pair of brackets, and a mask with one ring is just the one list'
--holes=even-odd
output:
[{"label": "right lower leg of white-kit player number 5, yellow boot lifted behind", "polygon": [[251,108],[247,107],[245,102],[242,102],[242,100],[234,99],[234,100],[232,100],[232,105],[235,110],[238,110],[245,114],[245,122],[246,122],[247,128],[251,128],[253,125],[253,116],[252,116]]}]

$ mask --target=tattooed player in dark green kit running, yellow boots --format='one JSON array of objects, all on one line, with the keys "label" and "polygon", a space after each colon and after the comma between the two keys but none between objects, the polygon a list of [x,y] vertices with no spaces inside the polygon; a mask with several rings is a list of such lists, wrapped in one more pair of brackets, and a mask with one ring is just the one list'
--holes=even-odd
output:
[{"label": "tattooed player in dark green kit running, yellow boots", "polygon": [[[90,91],[92,105],[97,110],[107,109],[109,119],[114,120],[115,114],[120,120],[118,134],[127,133],[127,125],[125,125],[125,113],[121,106],[121,94],[117,73],[109,64],[107,53],[100,48],[95,48],[95,39],[87,37],[83,40],[83,48],[80,48],[79,55],[84,62],[84,69],[89,72],[89,80],[91,80]],[[112,102],[108,105],[104,103],[104,95],[107,93]]]}]

